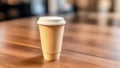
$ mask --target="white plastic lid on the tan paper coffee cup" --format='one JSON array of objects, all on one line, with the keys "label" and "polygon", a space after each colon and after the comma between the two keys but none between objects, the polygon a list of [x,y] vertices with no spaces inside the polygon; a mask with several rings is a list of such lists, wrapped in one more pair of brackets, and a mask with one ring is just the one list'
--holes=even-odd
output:
[{"label": "white plastic lid on the tan paper coffee cup", "polygon": [[37,21],[37,24],[41,25],[64,25],[66,24],[63,17],[56,17],[56,16],[44,16],[40,17]]}]

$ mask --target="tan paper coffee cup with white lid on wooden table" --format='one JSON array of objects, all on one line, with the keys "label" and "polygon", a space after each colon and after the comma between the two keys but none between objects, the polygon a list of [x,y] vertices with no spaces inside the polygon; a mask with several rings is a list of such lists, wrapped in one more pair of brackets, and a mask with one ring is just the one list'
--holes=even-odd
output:
[{"label": "tan paper coffee cup with white lid on wooden table", "polygon": [[58,60],[62,47],[64,18],[46,16],[40,17],[38,22],[42,53],[45,60]]}]

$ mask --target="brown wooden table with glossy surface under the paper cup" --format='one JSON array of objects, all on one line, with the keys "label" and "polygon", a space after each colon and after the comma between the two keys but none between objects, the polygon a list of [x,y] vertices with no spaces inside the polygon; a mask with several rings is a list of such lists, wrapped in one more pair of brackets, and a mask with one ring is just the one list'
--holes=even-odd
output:
[{"label": "brown wooden table with glossy surface under the paper cup", "polygon": [[120,68],[120,28],[67,24],[61,59],[45,62],[36,19],[3,21],[0,68]]}]

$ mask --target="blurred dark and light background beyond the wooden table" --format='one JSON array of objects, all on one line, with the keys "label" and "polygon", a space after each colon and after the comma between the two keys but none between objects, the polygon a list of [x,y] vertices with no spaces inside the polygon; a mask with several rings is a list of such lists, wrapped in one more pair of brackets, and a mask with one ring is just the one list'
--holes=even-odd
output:
[{"label": "blurred dark and light background beyond the wooden table", "polygon": [[74,22],[118,25],[120,0],[0,0],[0,21],[46,15],[63,15]]}]

